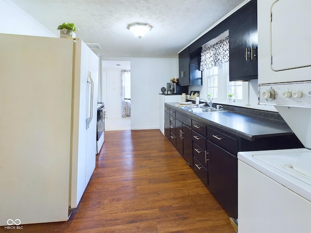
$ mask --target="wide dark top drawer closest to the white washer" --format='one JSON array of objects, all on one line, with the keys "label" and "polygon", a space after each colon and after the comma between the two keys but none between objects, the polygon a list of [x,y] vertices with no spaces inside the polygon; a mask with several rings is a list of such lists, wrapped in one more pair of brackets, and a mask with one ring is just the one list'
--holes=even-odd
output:
[{"label": "wide dark top drawer closest to the white washer", "polygon": [[230,153],[237,156],[238,153],[238,140],[236,138],[230,137],[225,133],[221,133],[217,130],[208,128],[207,139],[219,147],[229,151]]}]

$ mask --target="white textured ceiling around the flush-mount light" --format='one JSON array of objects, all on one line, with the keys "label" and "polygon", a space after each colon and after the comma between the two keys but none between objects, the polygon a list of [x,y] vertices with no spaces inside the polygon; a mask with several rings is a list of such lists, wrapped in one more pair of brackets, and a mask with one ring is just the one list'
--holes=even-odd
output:
[{"label": "white textured ceiling around the flush-mount light", "polygon": [[[101,56],[177,57],[191,41],[248,0],[11,0],[55,35],[75,23],[76,37],[99,43]],[[127,24],[153,26],[138,39]]]}]

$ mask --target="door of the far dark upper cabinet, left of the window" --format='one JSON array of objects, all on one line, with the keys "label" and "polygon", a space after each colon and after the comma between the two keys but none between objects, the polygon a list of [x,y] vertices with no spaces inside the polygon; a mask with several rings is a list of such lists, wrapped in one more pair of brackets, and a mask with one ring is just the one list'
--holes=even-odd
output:
[{"label": "door of the far dark upper cabinet, left of the window", "polygon": [[190,85],[190,54],[189,54],[189,47],[185,50],[182,50],[178,54],[178,64],[179,64],[179,77],[178,83],[181,86],[189,86]]}]

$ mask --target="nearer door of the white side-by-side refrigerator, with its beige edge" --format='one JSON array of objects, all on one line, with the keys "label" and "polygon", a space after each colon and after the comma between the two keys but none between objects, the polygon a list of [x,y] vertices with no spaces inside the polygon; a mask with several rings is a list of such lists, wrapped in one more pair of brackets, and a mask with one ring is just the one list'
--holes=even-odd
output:
[{"label": "nearer door of the white side-by-side refrigerator, with its beige edge", "polygon": [[78,206],[86,187],[88,47],[76,40],[70,207]]}]

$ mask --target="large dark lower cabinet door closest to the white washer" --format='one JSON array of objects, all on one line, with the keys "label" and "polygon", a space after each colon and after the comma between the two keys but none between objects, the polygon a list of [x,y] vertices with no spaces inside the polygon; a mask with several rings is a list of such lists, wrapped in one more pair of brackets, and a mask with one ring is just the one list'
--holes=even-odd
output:
[{"label": "large dark lower cabinet door closest to the white washer", "polygon": [[208,189],[229,216],[238,217],[238,159],[207,140]]}]

